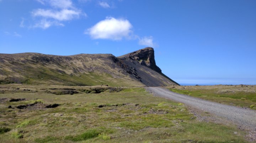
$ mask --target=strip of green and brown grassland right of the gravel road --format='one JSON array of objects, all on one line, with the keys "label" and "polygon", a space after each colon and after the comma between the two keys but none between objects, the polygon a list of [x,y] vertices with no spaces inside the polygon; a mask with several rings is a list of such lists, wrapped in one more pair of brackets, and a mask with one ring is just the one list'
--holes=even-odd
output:
[{"label": "strip of green and brown grassland right of the gravel road", "polygon": [[256,110],[255,85],[171,86],[168,89],[213,102]]}]

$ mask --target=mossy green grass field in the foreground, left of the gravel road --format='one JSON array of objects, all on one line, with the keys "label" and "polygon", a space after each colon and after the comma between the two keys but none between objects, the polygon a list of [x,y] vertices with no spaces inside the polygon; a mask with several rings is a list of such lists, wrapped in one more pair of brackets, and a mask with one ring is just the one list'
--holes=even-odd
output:
[{"label": "mossy green grass field in the foreground, left of the gravel road", "polygon": [[144,88],[95,88],[1,85],[0,142],[246,142],[237,127],[198,121]]}]

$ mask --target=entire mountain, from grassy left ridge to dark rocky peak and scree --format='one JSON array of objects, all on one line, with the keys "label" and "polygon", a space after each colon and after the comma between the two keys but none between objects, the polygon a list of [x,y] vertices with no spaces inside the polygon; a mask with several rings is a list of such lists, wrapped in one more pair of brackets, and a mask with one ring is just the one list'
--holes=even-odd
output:
[{"label": "entire mountain, from grassy left ridge to dark rocky peak and scree", "polygon": [[72,86],[178,85],[156,65],[154,49],[147,47],[126,55],[40,53],[0,54],[0,84]]}]

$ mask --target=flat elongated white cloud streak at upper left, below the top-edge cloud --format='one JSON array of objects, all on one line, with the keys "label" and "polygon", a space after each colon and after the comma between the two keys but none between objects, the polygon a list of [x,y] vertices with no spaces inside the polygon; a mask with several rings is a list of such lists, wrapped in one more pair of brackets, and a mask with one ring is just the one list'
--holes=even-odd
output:
[{"label": "flat elongated white cloud streak at upper left, below the top-edge cloud", "polygon": [[60,11],[37,9],[32,12],[33,16],[40,16],[44,18],[53,18],[58,21],[68,21],[74,18],[78,18],[81,11],[63,9]]}]

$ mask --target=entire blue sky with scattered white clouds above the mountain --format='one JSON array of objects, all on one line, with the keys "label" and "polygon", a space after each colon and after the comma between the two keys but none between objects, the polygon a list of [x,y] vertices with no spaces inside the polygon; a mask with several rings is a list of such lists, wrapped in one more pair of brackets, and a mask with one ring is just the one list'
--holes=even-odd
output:
[{"label": "entire blue sky with scattered white clouds above the mountain", "polygon": [[0,0],[0,53],[147,46],[181,84],[256,84],[255,0]]}]

